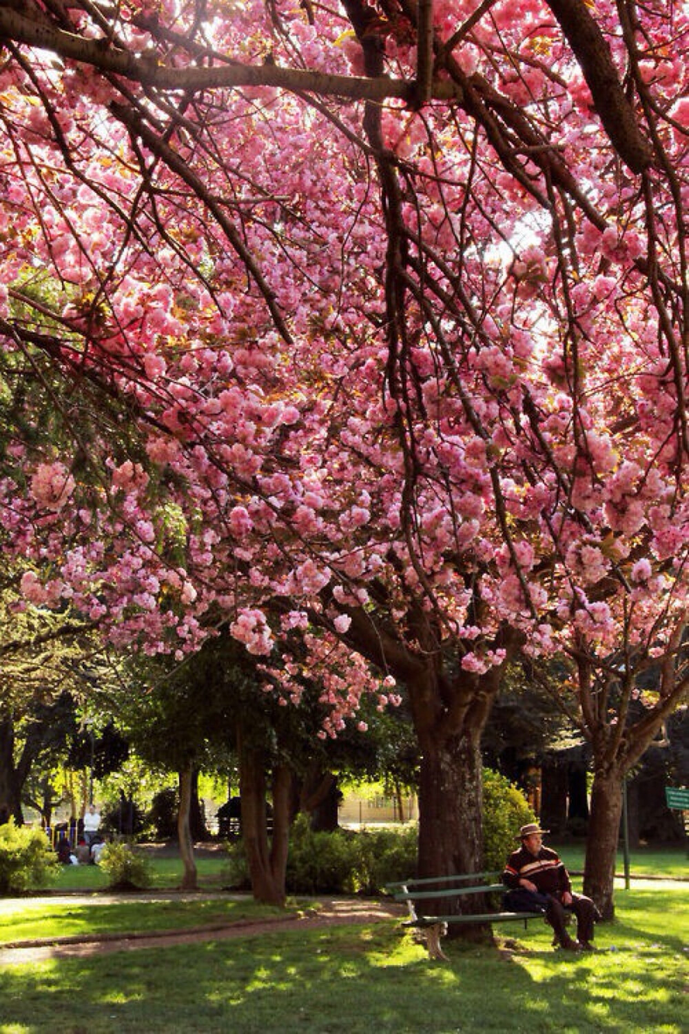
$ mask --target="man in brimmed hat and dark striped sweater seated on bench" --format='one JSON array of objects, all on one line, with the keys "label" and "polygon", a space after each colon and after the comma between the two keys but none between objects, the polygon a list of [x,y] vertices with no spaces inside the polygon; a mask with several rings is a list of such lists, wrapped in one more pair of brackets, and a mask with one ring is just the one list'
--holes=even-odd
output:
[{"label": "man in brimmed hat and dark striped sweater seated on bench", "polygon": [[[522,846],[512,851],[502,881],[509,888],[504,906],[511,912],[543,912],[565,951],[593,951],[593,923],[597,909],[590,898],[572,893],[569,873],[558,854],[543,847],[543,833],[535,822],[522,826],[515,839]],[[566,930],[567,915],[576,916],[576,940]]]}]

